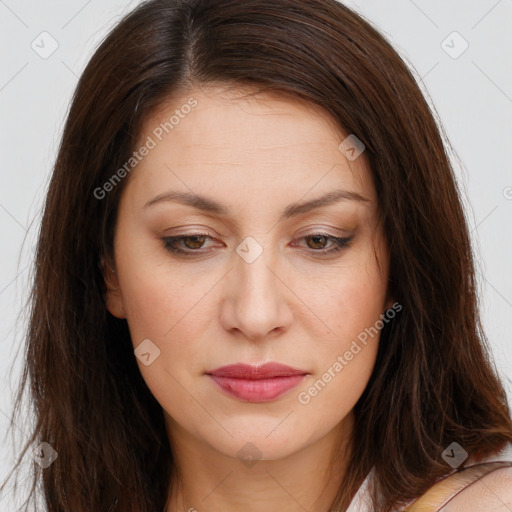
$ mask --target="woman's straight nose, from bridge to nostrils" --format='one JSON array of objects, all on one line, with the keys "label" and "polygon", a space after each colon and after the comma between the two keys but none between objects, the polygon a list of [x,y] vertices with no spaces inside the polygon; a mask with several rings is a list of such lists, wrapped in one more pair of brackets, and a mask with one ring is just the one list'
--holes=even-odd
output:
[{"label": "woman's straight nose, from bridge to nostrils", "polygon": [[225,277],[221,322],[240,338],[261,341],[286,331],[293,297],[275,258],[263,251],[254,261],[234,253],[234,268]]}]

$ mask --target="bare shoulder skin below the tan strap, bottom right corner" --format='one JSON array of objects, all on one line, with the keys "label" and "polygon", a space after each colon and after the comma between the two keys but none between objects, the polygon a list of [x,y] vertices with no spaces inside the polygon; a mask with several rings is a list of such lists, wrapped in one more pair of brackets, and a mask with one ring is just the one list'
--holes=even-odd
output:
[{"label": "bare shoulder skin below the tan strap, bottom right corner", "polygon": [[497,469],[466,487],[440,512],[510,512],[512,467]]}]

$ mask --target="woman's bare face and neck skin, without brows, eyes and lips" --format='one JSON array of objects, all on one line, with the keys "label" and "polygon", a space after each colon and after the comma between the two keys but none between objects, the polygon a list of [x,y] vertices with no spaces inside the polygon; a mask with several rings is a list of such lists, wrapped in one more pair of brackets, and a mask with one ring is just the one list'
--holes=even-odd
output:
[{"label": "woman's bare face and neck skin, without brows, eyes and lips", "polygon": [[[391,307],[388,248],[366,155],[349,161],[338,149],[348,134],[314,105],[269,93],[241,99],[240,92],[196,88],[146,119],[140,144],[189,98],[198,101],[129,176],[106,271],[107,307],[126,318],[134,348],[150,339],[160,350],[150,365],[137,363],[162,405],[180,476],[166,512],[267,512],[269,503],[281,512],[299,504],[327,510],[343,482],[352,409],[379,336],[309,403],[298,395]],[[279,221],[291,203],[337,189],[368,201]],[[144,207],[170,190],[215,199],[228,216],[170,201]],[[173,255],[162,242],[204,231],[212,238],[178,244],[201,256]],[[335,244],[311,237],[318,232],[354,239],[322,256]],[[246,237],[263,250],[251,263],[236,252]],[[269,361],[310,375],[267,403],[227,396],[205,375]],[[338,440],[341,455],[328,478]],[[250,466],[240,455],[248,442],[258,450]]]}]

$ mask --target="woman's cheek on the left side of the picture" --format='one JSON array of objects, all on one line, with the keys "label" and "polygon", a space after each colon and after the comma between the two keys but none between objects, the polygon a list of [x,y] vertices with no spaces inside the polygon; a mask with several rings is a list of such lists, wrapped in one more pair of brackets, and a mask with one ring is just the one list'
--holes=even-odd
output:
[{"label": "woman's cheek on the left side of the picture", "polygon": [[171,415],[180,417],[183,408],[197,414],[189,392],[208,361],[205,345],[211,336],[206,331],[215,318],[208,292],[216,280],[205,276],[191,281],[164,267],[151,270],[150,265],[133,268],[127,275],[123,294],[132,344],[137,350],[149,339],[158,353],[148,366],[137,359],[143,379]]}]

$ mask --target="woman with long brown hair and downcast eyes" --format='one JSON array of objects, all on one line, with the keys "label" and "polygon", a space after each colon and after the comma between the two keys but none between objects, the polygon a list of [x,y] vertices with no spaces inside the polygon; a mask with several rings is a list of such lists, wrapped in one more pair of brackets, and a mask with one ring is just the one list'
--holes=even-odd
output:
[{"label": "woman with long brown hair and downcast eyes", "polygon": [[122,20],[73,99],[32,299],[22,387],[50,512],[512,499],[442,138],[334,0],[152,0]]}]

